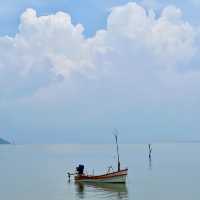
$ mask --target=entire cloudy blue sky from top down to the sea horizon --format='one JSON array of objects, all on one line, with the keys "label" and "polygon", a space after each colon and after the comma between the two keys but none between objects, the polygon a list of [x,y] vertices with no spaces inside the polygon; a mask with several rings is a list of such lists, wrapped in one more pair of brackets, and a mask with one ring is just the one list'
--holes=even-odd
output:
[{"label": "entire cloudy blue sky from top down to the sea horizon", "polygon": [[198,0],[0,6],[0,137],[18,144],[200,140]]}]

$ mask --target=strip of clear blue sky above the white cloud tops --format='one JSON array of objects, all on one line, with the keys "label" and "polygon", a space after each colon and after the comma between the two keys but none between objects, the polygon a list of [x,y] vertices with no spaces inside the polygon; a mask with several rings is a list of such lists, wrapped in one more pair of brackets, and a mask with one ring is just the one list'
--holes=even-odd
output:
[{"label": "strip of clear blue sky above the white cloud tops", "polygon": [[[57,11],[65,11],[70,13],[74,23],[81,23],[85,26],[85,34],[92,35],[96,30],[106,26],[106,17],[109,14],[109,10],[113,6],[122,5],[128,0],[7,0],[1,2],[0,8],[0,35],[14,35],[18,30],[19,18],[21,13],[26,8],[34,8],[39,15],[52,14]],[[185,18],[191,23],[199,24],[199,8],[200,3],[198,0],[146,0],[135,1],[145,4],[146,7],[153,8],[160,11],[166,5],[175,5],[183,10]]]}]

